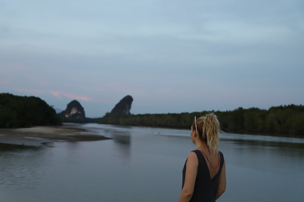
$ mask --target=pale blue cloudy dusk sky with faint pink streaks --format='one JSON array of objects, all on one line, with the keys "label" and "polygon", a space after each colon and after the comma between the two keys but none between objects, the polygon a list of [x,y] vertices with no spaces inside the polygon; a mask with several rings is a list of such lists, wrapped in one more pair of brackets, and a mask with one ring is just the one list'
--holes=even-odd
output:
[{"label": "pale blue cloudy dusk sky with faint pink streaks", "polygon": [[304,104],[302,0],[0,0],[0,92],[102,117]]}]

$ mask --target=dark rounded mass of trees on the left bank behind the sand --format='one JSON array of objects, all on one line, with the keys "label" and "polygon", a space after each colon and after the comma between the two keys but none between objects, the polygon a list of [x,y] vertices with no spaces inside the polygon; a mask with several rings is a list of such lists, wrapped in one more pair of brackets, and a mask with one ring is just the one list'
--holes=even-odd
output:
[{"label": "dark rounded mass of trees on the left bank behind the sand", "polygon": [[55,110],[40,98],[0,93],[0,127],[60,124]]}]

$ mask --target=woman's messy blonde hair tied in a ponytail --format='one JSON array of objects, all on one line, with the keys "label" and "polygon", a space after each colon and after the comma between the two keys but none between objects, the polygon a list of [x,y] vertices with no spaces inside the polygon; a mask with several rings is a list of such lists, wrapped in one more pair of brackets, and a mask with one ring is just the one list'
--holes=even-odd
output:
[{"label": "woman's messy blonde hair tied in a ponytail", "polygon": [[[219,121],[213,113],[206,114],[196,118],[197,132],[200,141],[205,141],[210,152],[216,153],[219,150]],[[195,129],[195,121],[192,123],[192,128]]]}]

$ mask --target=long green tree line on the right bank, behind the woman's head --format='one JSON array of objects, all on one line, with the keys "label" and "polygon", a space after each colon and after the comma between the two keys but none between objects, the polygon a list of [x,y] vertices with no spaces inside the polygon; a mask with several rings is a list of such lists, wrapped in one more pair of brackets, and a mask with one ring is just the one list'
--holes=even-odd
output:
[{"label": "long green tree line on the right bank, behind the woman's head", "polygon": [[217,115],[223,131],[304,134],[304,106],[294,104],[271,107],[268,110],[240,107],[233,111],[105,116],[98,123],[182,129],[191,127],[195,115],[210,112]]}]

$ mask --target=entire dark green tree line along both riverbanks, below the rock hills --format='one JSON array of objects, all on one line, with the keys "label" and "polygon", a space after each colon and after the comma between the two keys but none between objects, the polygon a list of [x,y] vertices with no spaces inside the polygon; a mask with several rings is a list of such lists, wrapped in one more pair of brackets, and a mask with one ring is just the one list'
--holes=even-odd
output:
[{"label": "entire dark green tree line along both riverbanks, below the rock hills", "polygon": [[[61,122],[98,122],[133,126],[190,128],[195,115],[205,115],[211,111],[168,114],[137,114],[104,116],[74,120],[60,118],[54,108],[37,97],[16,96],[0,93],[0,127],[30,127],[36,125],[61,125]],[[284,105],[268,110],[259,108],[237,108],[233,111],[212,111],[223,131],[274,132],[304,135],[304,106]]]}]

